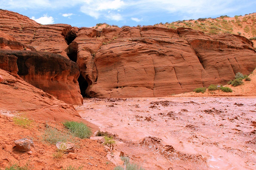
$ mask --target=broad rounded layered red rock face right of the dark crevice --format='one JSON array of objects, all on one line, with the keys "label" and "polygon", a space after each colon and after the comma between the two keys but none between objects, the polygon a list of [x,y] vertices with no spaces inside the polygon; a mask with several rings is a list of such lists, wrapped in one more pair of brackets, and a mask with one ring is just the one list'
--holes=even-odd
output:
[{"label": "broad rounded layered red rock face right of the dark crevice", "polygon": [[236,72],[248,74],[256,67],[256,53],[241,36],[147,26],[124,28],[93,61],[85,71],[94,76],[91,97],[161,97],[225,84]]}]

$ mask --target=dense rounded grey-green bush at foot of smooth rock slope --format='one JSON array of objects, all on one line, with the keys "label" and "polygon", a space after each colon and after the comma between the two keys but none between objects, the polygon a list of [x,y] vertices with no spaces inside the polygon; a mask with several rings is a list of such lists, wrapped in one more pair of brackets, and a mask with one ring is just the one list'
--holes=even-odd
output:
[{"label": "dense rounded grey-green bush at foot of smooth rock slope", "polygon": [[92,135],[89,129],[83,122],[66,121],[63,125],[70,130],[70,132],[81,139],[89,138]]}]

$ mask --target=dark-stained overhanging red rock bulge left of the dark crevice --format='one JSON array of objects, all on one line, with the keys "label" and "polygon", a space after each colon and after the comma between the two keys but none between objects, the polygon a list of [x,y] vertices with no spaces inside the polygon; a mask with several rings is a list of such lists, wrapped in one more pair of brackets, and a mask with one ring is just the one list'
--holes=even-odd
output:
[{"label": "dark-stained overhanging red rock bulge left of the dark crevice", "polygon": [[[79,69],[77,64],[69,59],[52,53],[24,50],[0,50],[0,56],[2,56],[0,61],[6,58],[3,63],[8,62],[8,66],[12,68],[17,60],[18,75],[29,84],[66,103],[73,105],[83,103],[77,82]],[[9,67],[5,70],[16,69]]]}]

